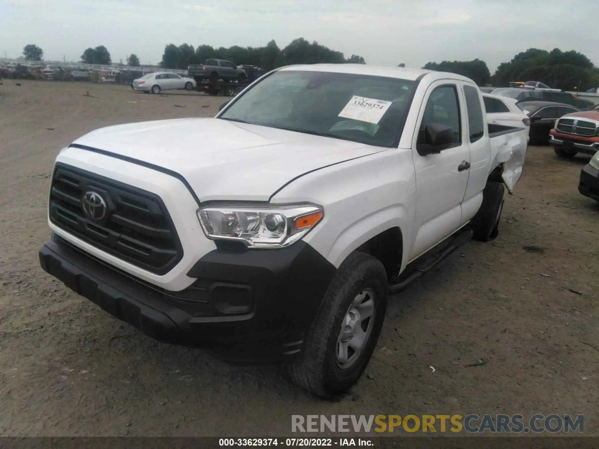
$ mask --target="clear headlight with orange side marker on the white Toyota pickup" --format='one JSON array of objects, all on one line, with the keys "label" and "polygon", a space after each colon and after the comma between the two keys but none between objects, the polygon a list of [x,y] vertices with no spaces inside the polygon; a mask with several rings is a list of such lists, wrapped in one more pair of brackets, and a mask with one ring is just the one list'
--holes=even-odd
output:
[{"label": "clear headlight with orange side marker on the white Toyota pickup", "polygon": [[213,240],[240,241],[250,248],[282,248],[301,239],[322,219],[311,204],[214,205],[198,209],[205,235]]}]

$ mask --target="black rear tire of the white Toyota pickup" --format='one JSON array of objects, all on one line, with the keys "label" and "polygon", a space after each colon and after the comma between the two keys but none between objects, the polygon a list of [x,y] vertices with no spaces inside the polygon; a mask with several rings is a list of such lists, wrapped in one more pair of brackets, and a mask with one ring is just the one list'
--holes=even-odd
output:
[{"label": "black rear tire of the white Toyota pickup", "polygon": [[504,187],[501,183],[488,182],[483,190],[483,202],[470,222],[474,239],[489,242],[499,234],[499,222],[503,211]]}]

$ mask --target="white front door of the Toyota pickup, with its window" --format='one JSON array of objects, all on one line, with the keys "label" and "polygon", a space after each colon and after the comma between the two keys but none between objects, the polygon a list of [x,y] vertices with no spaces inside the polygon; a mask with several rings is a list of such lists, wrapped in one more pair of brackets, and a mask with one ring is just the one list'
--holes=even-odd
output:
[{"label": "white front door of the Toyota pickup, with its window", "polygon": [[[470,168],[468,134],[462,120],[466,116],[459,81],[437,81],[429,86],[412,143],[416,168],[414,226],[417,232],[410,260],[459,229]],[[418,146],[424,143],[425,127],[434,124],[451,128],[455,141],[438,154],[420,154]]]}]

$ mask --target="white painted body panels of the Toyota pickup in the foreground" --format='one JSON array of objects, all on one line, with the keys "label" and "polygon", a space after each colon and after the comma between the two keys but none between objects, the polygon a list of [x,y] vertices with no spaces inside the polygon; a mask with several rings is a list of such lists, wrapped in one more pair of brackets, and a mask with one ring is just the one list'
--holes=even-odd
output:
[{"label": "white painted body panels of the Toyota pickup in the foreground", "polygon": [[[274,204],[319,204],[324,217],[304,241],[336,267],[368,239],[399,227],[404,242],[401,269],[405,268],[409,260],[458,230],[476,214],[486,179],[498,163],[506,164],[504,180],[506,184],[511,182],[512,187],[521,174],[527,132],[489,139],[485,128],[485,135],[479,141],[473,144],[469,141],[462,92],[464,85],[474,86],[468,78],[368,65],[310,65],[282,70],[422,78],[398,148],[371,147],[219,119],[113,126],[93,131],[76,143],[177,172],[202,202],[270,199]],[[455,84],[458,90],[462,143],[440,154],[420,156],[416,137],[424,105],[432,90],[443,84]],[[77,148],[62,151],[57,160],[161,196],[179,233],[184,257],[171,272],[156,276],[50,225],[53,230],[105,262],[165,289],[180,290],[192,283],[186,272],[215,245],[205,238],[195,214],[198,205],[180,180]],[[459,172],[462,161],[470,162],[471,168]]]}]

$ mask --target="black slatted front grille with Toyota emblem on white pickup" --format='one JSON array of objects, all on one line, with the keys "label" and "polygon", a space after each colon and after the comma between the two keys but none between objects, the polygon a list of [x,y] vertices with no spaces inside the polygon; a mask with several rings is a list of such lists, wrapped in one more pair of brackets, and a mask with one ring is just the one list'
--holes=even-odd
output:
[{"label": "black slatted front grille with Toyota emblem on white pickup", "polygon": [[[83,197],[89,192],[104,199],[104,216],[84,211]],[[87,243],[156,274],[170,271],[183,257],[159,196],[78,168],[56,165],[49,216],[56,226]]]}]

